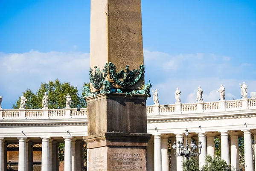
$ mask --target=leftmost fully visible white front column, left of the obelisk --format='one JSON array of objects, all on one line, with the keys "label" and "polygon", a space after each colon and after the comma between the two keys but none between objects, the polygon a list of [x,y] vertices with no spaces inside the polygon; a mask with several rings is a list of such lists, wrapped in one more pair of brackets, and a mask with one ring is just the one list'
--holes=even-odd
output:
[{"label": "leftmost fully visible white front column, left of the obelisk", "polygon": [[19,164],[18,171],[26,171],[26,138],[19,139]]}]

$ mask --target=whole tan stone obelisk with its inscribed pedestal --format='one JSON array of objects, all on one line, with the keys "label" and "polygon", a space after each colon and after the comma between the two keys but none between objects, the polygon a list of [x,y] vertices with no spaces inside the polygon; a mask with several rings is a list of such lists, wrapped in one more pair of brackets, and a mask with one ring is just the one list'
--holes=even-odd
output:
[{"label": "whole tan stone obelisk with its inscribed pedestal", "polygon": [[91,0],[90,67],[91,91],[112,89],[86,98],[87,170],[146,171],[147,96],[136,93],[145,86],[140,0]]}]

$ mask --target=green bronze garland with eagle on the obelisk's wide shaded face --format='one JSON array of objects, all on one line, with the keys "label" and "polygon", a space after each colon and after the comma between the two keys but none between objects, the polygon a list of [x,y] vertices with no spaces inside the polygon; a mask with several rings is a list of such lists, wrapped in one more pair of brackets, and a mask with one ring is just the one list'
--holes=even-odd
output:
[{"label": "green bronze garland with eagle on the obelisk's wide shaded face", "polygon": [[[109,75],[115,81],[115,83],[121,87],[131,87],[141,78],[144,77],[145,67],[144,65],[140,66],[139,70],[129,70],[129,65],[126,65],[125,70],[121,70],[118,73],[116,72],[116,66],[111,62],[108,65]],[[134,79],[135,73],[138,74],[137,78]],[[122,81],[121,81],[122,80]]]}]

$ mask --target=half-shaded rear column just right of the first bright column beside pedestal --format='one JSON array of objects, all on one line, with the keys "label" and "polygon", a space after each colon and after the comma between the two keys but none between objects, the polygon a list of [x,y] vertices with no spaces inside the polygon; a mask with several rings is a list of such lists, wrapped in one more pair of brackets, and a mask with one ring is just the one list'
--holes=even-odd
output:
[{"label": "half-shaded rear column just right of the first bright column beside pedestal", "polygon": [[169,171],[168,137],[161,137],[162,171]]}]

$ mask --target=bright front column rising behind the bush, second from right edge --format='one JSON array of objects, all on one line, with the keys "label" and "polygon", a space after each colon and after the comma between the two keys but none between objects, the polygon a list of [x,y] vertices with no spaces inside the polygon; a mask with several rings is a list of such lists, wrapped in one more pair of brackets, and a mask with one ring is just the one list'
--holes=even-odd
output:
[{"label": "bright front column rising behind the bush, second from right edge", "polygon": [[221,132],[221,159],[224,159],[230,165],[229,144],[227,132]]}]

